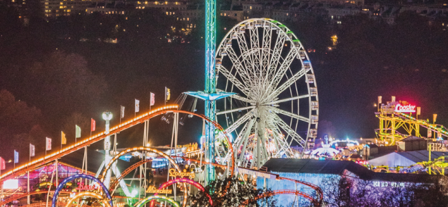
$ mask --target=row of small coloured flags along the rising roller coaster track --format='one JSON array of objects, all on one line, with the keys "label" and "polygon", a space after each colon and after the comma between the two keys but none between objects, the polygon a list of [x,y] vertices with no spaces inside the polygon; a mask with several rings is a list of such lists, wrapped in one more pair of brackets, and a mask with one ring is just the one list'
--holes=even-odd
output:
[{"label": "row of small coloured flags along the rising roller coaster track", "polygon": [[[165,103],[166,101],[169,101],[171,97],[170,88],[165,87]],[[150,106],[154,106],[155,103],[155,95],[154,93],[150,93]],[[135,99],[135,112],[140,111],[140,101],[138,99]],[[125,107],[121,106],[120,108],[120,119],[125,117]],[[90,119],[90,132],[94,132],[96,129],[96,121],[95,119]],[[75,139],[81,138],[81,127],[75,125]],[[61,131],[61,146],[63,144],[67,144],[67,137],[65,137],[65,133]],[[45,137],[45,152],[52,149],[52,139]],[[30,144],[30,157],[34,157],[36,155],[36,147],[32,144]],[[19,163],[19,152],[14,150],[14,164]],[[5,166],[5,159],[0,157],[0,170],[4,170],[6,168]]]}]

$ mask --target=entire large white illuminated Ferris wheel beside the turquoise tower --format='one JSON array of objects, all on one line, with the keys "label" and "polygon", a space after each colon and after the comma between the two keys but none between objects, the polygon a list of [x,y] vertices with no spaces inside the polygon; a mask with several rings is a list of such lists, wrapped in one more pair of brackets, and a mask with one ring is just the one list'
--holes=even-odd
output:
[{"label": "entire large white illuminated Ferris wheel beside the turquoise tower", "polygon": [[[316,138],[318,94],[307,52],[273,19],[247,19],[216,50],[216,120],[232,135],[236,164],[260,168],[271,157],[301,157]],[[216,161],[230,160],[222,133]],[[297,146],[297,148],[292,148]]]}]

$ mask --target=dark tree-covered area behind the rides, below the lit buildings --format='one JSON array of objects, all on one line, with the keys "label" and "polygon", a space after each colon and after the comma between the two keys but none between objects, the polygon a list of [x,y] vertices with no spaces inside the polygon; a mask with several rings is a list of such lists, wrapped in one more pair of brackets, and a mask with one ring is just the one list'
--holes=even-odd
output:
[{"label": "dark tree-covered area behind the rides, below the lit buildings", "polygon": [[[10,15],[0,11],[3,17]],[[172,92],[169,103],[181,92],[203,90],[203,24],[199,22],[196,31],[185,37],[191,43],[167,43],[164,35],[176,22],[170,17],[148,21],[157,15],[134,14],[128,21],[92,16],[30,19],[29,26],[19,19],[1,18],[0,89],[8,90],[15,101],[6,101],[6,92],[1,93],[0,139],[6,144],[1,145],[0,156],[10,159],[12,150],[19,148],[21,157],[28,157],[28,142],[43,152],[45,137],[53,137],[54,146],[59,146],[61,130],[72,143],[74,124],[83,126],[83,137],[88,136],[90,117],[103,130],[105,110],[114,113],[112,125],[118,124],[121,105],[126,107],[124,120],[130,119],[134,99],[141,101],[141,112],[149,110],[150,92],[156,94],[156,107],[163,106],[165,86]],[[220,38],[227,32],[223,28],[237,23],[223,18],[218,22]],[[334,128],[340,138],[375,137],[378,95],[383,102],[394,95],[421,106],[424,119],[438,113],[438,124],[448,125],[448,34],[441,25],[429,25],[415,14],[403,14],[394,26],[363,16],[343,22],[285,22],[305,48],[316,51],[309,56],[318,85],[319,120],[326,123],[319,135]],[[116,32],[116,25],[126,32]],[[338,44],[328,51],[334,34]],[[117,37],[119,43],[73,40],[79,37]],[[15,115],[5,104],[17,105]],[[203,113],[203,103],[198,105]],[[201,126],[197,118],[185,121],[180,144],[198,141]],[[153,146],[170,144],[170,124],[159,117],[151,120],[150,127]],[[120,137],[125,139],[119,140],[119,148],[140,144],[143,125],[121,132]],[[92,147],[102,146],[96,145]]]}]

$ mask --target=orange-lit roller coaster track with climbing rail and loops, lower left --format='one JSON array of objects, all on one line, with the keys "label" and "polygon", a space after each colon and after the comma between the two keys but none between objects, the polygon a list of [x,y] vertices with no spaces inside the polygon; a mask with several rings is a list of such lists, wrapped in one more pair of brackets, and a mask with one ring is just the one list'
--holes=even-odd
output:
[{"label": "orange-lit roller coaster track with climbing rail and loops, lower left", "polygon": [[[105,139],[105,137],[107,137],[109,135],[116,135],[116,133],[119,133],[123,130],[127,130],[129,128],[132,128],[132,126],[136,126],[137,124],[143,124],[143,123],[145,123],[145,121],[148,121],[149,119],[152,119],[152,118],[160,116],[160,115],[166,115],[167,113],[174,113],[174,114],[186,113],[188,115],[194,115],[196,117],[201,117],[201,119],[210,121],[206,117],[203,117],[202,115],[196,115],[192,112],[184,112],[181,110],[177,110],[177,106],[174,106],[174,105],[173,106],[165,106],[163,108],[158,108],[156,110],[147,112],[139,117],[131,119],[130,121],[125,121],[123,124],[119,124],[118,126],[114,126],[114,127],[110,128],[109,133],[108,132],[100,132],[98,135],[94,135],[92,137],[87,137],[85,139],[81,139],[81,141],[79,141],[78,143],[76,143],[72,146],[69,146],[68,148],[63,148],[61,150],[58,150],[57,152],[52,153],[51,155],[47,155],[47,156],[37,159],[35,161],[31,161],[28,164],[19,166],[18,168],[11,170],[10,172],[6,172],[4,175],[2,175],[0,177],[0,183],[3,183],[3,181],[5,181],[7,179],[13,179],[14,177],[23,175],[26,172],[28,172],[28,170],[34,170],[34,169],[40,168],[41,166],[48,166],[48,165],[56,164],[57,159],[60,159],[61,157],[65,156],[65,155],[69,155],[70,153],[74,152],[75,150],[80,150],[82,148],[85,148],[86,146],[93,144],[96,141],[101,141],[101,140]],[[211,123],[214,123],[214,122],[211,122]],[[216,123],[214,123],[214,124],[215,124],[216,128],[218,128],[218,129],[221,128],[221,126],[219,126],[218,124],[216,124]],[[228,144],[230,144],[230,146],[232,146],[232,143],[230,143],[230,141]],[[233,161],[229,161],[229,164],[227,164],[227,165],[222,165],[222,164],[211,163],[209,161],[203,161],[200,159],[192,159],[190,157],[181,157],[181,156],[175,156],[175,155],[170,156],[170,155],[167,155],[164,152],[161,152],[154,148],[141,146],[141,147],[128,148],[128,149],[122,150],[121,152],[114,152],[113,154],[115,156],[112,157],[112,159],[110,159],[109,163],[104,164],[102,166],[102,169],[99,169],[99,170],[101,170],[101,174],[97,175],[98,179],[94,178],[95,181],[98,180],[98,181],[96,181],[96,183],[103,184],[103,181],[105,181],[105,179],[108,178],[106,175],[107,175],[107,172],[110,171],[110,168],[113,168],[113,167],[116,168],[116,166],[114,166],[114,164],[116,164],[116,160],[119,159],[120,157],[122,157],[123,155],[127,155],[131,152],[153,152],[158,157],[163,157],[163,158],[167,159],[168,161],[170,161],[170,164],[172,164],[174,169],[176,169],[178,172],[182,172],[182,170],[181,170],[181,168],[179,168],[178,164],[176,164],[176,161],[174,161],[174,159],[183,159],[185,161],[190,161],[190,162],[194,162],[194,163],[198,164],[199,167],[196,170],[198,170],[199,172],[201,171],[200,166],[205,166],[205,165],[213,165],[218,168],[229,169],[227,172],[227,176],[230,176],[230,177],[233,176],[234,172],[236,171],[234,168],[237,168],[236,166],[234,167]],[[232,157],[234,157],[234,156],[232,156]],[[123,170],[123,172],[121,174],[117,175],[116,179],[111,180],[112,182],[110,182],[110,185],[108,187],[104,187],[104,188],[107,188],[107,191],[110,193],[112,198],[119,197],[118,195],[114,195],[114,191],[116,190],[116,187],[119,185],[119,183],[121,181],[123,181],[123,178],[126,175],[128,175],[130,172],[135,170],[136,168],[139,168],[139,166],[143,166],[144,164],[146,164],[147,162],[150,162],[150,161],[152,161],[152,159],[143,159],[141,161],[138,161],[136,164],[133,164],[129,168]],[[251,169],[247,169],[247,170],[251,170]],[[79,174],[79,177],[89,177],[89,176],[90,175]],[[92,176],[90,176],[90,177],[92,177]],[[70,179],[74,179],[74,178],[70,178]],[[287,179],[284,177],[277,177],[277,179],[289,180],[289,181],[295,182],[296,184],[303,184],[307,187],[310,187],[310,188],[316,190],[316,195],[318,195],[318,197],[312,197],[311,195],[307,195],[306,193],[302,193],[299,191],[297,191],[297,192],[295,191],[294,193],[292,193],[292,192],[289,192],[290,190],[289,191],[288,190],[276,191],[275,194],[272,194],[272,195],[278,195],[278,194],[282,194],[282,193],[292,194],[292,195],[296,195],[296,196],[308,199],[308,200],[312,201],[313,204],[318,204],[323,199],[322,190],[320,190],[320,188],[314,184],[310,184],[305,181],[296,181],[293,179]],[[174,184],[176,182],[179,182],[179,184],[195,184],[196,187],[198,187],[199,189],[203,189],[203,187],[200,184],[196,184],[196,182],[192,183],[192,181],[189,181],[187,179],[176,179],[176,177],[172,177],[172,179],[170,181],[168,181],[167,184],[163,185],[161,188],[165,188],[165,187],[167,187],[167,185]],[[59,184],[58,189],[61,188],[61,185],[63,187],[66,183],[67,183],[67,181],[61,182],[61,184]],[[50,184],[50,186],[52,186],[52,184]],[[143,186],[141,186],[141,187],[143,187]],[[71,192],[59,191],[59,193],[71,193]],[[17,199],[21,199],[22,197],[28,197],[29,195],[37,195],[37,194],[53,195],[53,199],[55,199],[54,195],[56,195],[57,192],[55,192],[53,190],[48,190],[48,191],[38,191],[38,192],[10,195],[8,197],[3,197],[2,201],[0,202],[0,206],[8,204],[11,201],[14,201]],[[272,195],[269,194],[266,196],[272,196]],[[82,196],[83,197],[93,196],[93,197],[96,197],[97,199],[99,199],[101,195],[94,195],[94,194],[87,195],[86,194],[86,195],[82,195]],[[156,195],[154,195],[154,196],[156,196]],[[159,197],[153,197],[152,200],[155,200],[156,198],[161,199],[161,200],[169,199],[169,198],[159,196]],[[104,199],[103,196],[101,196],[101,199]],[[183,198],[183,204],[181,206],[185,206],[186,201],[187,201],[187,193],[185,192],[184,198]],[[212,203],[211,199],[210,199],[210,203]],[[59,202],[59,204],[58,204],[57,199],[54,201],[54,205],[60,206],[60,204],[61,204],[61,202]],[[39,204],[39,205],[43,205],[43,204]],[[106,205],[106,206],[108,206],[108,205]],[[113,204],[110,206],[113,206]],[[174,205],[174,206],[176,206],[176,205]]]}]

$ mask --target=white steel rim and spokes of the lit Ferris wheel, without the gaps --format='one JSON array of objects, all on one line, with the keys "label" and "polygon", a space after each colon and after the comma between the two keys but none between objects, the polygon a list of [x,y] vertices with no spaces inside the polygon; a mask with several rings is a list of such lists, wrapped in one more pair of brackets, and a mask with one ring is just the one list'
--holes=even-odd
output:
[{"label": "white steel rim and spokes of the lit Ferris wheel, without the gaps", "polygon": [[[260,36],[258,34],[258,28],[264,28],[263,37],[258,37]],[[246,38],[244,34],[246,30],[249,30],[250,33],[248,34],[248,38]],[[271,38],[273,36],[272,30],[277,30],[277,39],[273,43],[274,48],[271,47]],[[269,31],[270,33],[265,34],[267,33],[266,31]],[[232,41],[235,39],[236,41],[238,41],[240,54],[237,54],[238,51],[235,52],[234,47],[232,46]],[[250,40],[247,41],[247,39]],[[285,45],[285,43],[287,43],[287,45],[289,44],[291,48],[289,49],[289,52],[287,52],[287,56],[283,57],[281,52],[283,51],[283,45]],[[263,47],[261,47],[260,45],[263,45]],[[238,99],[239,101],[247,103],[246,107],[243,108],[231,108],[230,110],[227,110],[225,108],[225,110],[223,111],[216,112],[216,119],[218,119],[218,116],[220,115],[225,115],[226,119],[228,119],[227,114],[231,112],[241,112],[241,110],[247,110],[246,115],[248,116],[244,115],[243,117],[238,117],[238,120],[231,121],[231,123],[233,124],[230,126],[227,122],[227,133],[230,134],[234,132],[236,128],[240,126],[243,126],[243,129],[247,127],[251,128],[250,130],[252,130],[252,126],[247,126],[247,122],[250,117],[257,117],[257,120],[266,119],[268,120],[266,123],[268,123],[269,121],[281,122],[282,119],[278,116],[275,116],[275,119],[269,119],[269,116],[271,116],[269,115],[269,113],[274,112],[275,114],[286,115],[287,117],[292,117],[297,121],[304,121],[307,123],[307,133],[305,139],[296,133],[297,124],[296,128],[288,128],[287,124],[284,121],[282,123],[283,126],[281,127],[272,127],[276,124],[268,123],[266,129],[274,130],[274,134],[276,134],[277,137],[285,137],[285,135],[283,135],[280,130],[280,128],[283,128],[283,131],[287,132],[286,137],[294,137],[297,143],[301,144],[301,146],[303,147],[305,147],[307,138],[315,137],[317,133],[318,121],[318,95],[317,85],[314,77],[314,70],[311,66],[305,48],[303,47],[301,42],[298,41],[296,35],[289,30],[289,28],[273,19],[247,19],[245,21],[242,21],[241,23],[238,23],[229,32],[227,32],[225,38],[223,38],[218,46],[218,50],[216,51],[215,73],[216,75],[223,75],[223,77],[225,77],[226,79],[225,90],[217,89],[217,92],[234,92],[234,88],[237,88],[241,92],[237,92],[238,95],[234,95],[233,97],[231,97],[231,99]],[[250,57],[251,55],[253,57]],[[258,55],[260,57],[258,57]],[[265,55],[269,55],[267,59],[263,59]],[[272,57],[270,55],[272,55]],[[276,55],[275,58],[274,55]],[[232,63],[231,68],[226,68],[225,66],[223,66],[224,57],[227,57],[226,59],[230,59]],[[256,59],[255,63],[254,59]],[[299,68],[300,70],[298,70],[298,72],[292,72],[292,63],[295,59],[300,59],[301,61],[301,68]],[[263,61],[263,63],[261,61]],[[249,63],[252,63],[252,65],[250,65]],[[259,70],[259,73],[251,73],[251,71],[248,70]],[[234,72],[235,75],[233,75],[232,72]],[[292,76],[287,77],[287,72],[290,72]],[[269,79],[271,77],[272,79]],[[283,77],[287,78],[287,80],[284,82],[282,82]],[[299,88],[297,86],[297,81],[299,79],[302,79],[303,77],[305,77],[305,83],[307,83],[307,93],[304,95],[298,95]],[[262,79],[260,78],[264,78],[265,81],[262,81]],[[267,82],[267,84],[265,82]],[[313,85],[314,87],[312,87],[311,85]],[[293,92],[290,92],[290,95],[292,97],[279,99],[278,96],[288,88],[289,90],[291,90],[291,88],[294,88],[297,95],[292,96]],[[299,115],[298,107],[297,112],[295,112],[294,110],[288,112],[278,108],[278,106],[283,102],[295,100],[299,101],[299,99],[308,99],[308,117]],[[234,117],[232,117],[232,119],[234,119]],[[289,126],[291,125],[292,124],[289,124]],[[236,132],[236,135],[237,136],[234,148],[240,148],[242,145],[241,141],[244,138],[242,138],[243,136],[241,136],[241,133],[238,134],[238,132]],[[250,135],[252,135],[252,133],[250,133]],[[249,138],[248,136],[246,137]],[[279,144],[278,140],[276,140],[276,144],[278,146],[281,146],[283,151],[290,151],[289,146],[292,144],[292,141],[289,143],[287,143],[288,141],[285,142],[286,143]],[[280,152],[281,150],[277,151]],[[289,153],[289,155],[292,155],[292,152]],[[265,158],[267,158],[266,155]]]}]

